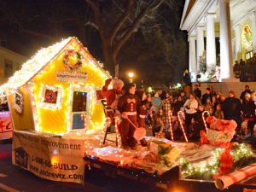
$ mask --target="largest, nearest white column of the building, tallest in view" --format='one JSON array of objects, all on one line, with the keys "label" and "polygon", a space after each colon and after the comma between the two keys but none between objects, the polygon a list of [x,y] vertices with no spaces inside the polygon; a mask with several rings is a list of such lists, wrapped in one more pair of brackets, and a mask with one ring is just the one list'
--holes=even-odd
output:
[{"label": "largest, nearest white column of the building, tallest in view", "polygon": [[233,78],[230,0],[219,0],[220,79]]}]

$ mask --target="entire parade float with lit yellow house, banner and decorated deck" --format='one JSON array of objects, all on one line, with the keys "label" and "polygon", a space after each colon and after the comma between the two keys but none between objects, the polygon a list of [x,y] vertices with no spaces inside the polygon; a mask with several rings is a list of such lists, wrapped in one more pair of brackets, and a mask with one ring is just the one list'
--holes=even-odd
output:
[{"label": "entire parade float with lit yellow house, banner and decorated deck", "polygon": [[[224,189],[232,184],[225,174],[248,165],[252,165],[249,173],[244,171],[245,176],[239,175],[233,183],[255,174],[251,148],[229,144],[235,133],[230,121],[212,119],[201,145],[189,143],[183,119],[179,118],[176,123],[183,142],[174,141],[173,127],[172,141],[146,137],[147,147],[120,148],[117,120],[109,124],[101,101],[102,86],[109,78],[77,38],[41,49],[26,61],[0,86],[1,96],[8,99],[14,127],[13,164],[54,181],[84,183],[87,167],[164,189],[184,182],[191,185],[191,179],[207,181],[211,188],[215,188],[215,179],[216,186]],[[172,119],[169,113],[171,125]],[[117,146],[103,143],[109,126],[116,130],[112,137]]]}]

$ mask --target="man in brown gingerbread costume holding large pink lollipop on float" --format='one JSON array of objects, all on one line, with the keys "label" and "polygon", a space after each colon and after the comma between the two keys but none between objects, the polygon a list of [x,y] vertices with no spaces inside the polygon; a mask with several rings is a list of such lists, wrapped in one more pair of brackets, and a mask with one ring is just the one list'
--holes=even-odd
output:
[{"label": "man in brown gingerbread costume holding large pink lollipop on float", "polygon": [[134,125],[137,125],[137,106],[140,103],[140,99],[135,95],[136,84],[129,84],[127,90],[125,91],[125,95],[119,98],[118,109],[122,114],[122,131],[121,131],[121,139],[122,139],[122,147],[132,149],[136,148],[136,139],[133,137],[133,133],[135,131],[135,127],[131,125],[130,121]]}]

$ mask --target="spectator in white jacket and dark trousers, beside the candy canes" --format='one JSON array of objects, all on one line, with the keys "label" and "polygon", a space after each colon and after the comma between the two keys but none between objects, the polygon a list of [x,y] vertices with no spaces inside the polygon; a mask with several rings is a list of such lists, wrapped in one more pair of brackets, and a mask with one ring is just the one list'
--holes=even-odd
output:
[{"label": "spectator in white jacket and dark trousers, beside the candy canes", "polygon": [[191,120],[196,118],[196,112],[198,109],[198,102],[195,99],[195,94],[190,93],[189,99],[184,104],[185,108],[185,123],[186,127],[188,128],[191,124]]}]

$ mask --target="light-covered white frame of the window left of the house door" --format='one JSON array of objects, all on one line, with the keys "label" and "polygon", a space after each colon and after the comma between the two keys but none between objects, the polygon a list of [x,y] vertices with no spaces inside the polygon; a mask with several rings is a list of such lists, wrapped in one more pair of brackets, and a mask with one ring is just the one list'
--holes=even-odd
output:
[{"label": "light-covered white frame of the window left of the house door", "polygon": [[[57,91],[57,99],[56,103],[49,103],[49,102],[44,102],[44,96],[46,90],[53,90],[54,92]],[[49,84],[43,84],[41,91],[40,91],[40,103],[39,107],[40,108],[48,108],[48,109],[60,109],[61,108],[61,100],[62,100],[62,89],[59,86],[53,86]]]}]

